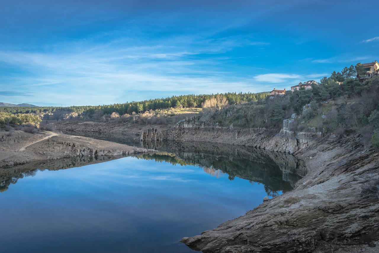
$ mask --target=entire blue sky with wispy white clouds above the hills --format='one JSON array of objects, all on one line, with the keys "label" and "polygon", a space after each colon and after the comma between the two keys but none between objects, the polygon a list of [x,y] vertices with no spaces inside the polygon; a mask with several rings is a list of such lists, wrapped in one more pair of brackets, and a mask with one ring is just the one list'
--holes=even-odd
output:
[{"label": "entire blue sky with wispy white clouds above the hills", "polygon": [[377,11],[327,0],[0,0],[0,102],[262,92],[379,59]]}]

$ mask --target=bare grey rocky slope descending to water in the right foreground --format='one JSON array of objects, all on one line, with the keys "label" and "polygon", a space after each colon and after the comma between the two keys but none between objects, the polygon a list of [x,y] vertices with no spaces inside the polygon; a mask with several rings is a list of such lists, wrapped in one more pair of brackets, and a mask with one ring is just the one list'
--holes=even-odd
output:
[{"label": "bare grey rocky slope descending to water in the right foreground", "polygon": [[291,192],[181,240],[204,253],[379,252],[379,154],[359,137],[329,138],[296,152],[308,174]]}]

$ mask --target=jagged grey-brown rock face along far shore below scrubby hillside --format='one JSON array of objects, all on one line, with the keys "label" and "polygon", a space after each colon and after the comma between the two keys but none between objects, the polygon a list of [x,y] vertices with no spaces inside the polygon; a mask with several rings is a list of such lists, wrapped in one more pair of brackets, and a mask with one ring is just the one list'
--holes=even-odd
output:
[{"label": "jagged grey-brown rock face along far shore below scrubby hillside", "polygon": [[288,130],[288,120],[283,129],[246,129],[220,127],[207,122],[207,117],[196,116],[179,121],[171,129],[148,128],[141,131],[142,143],[164,143],[165,141],[202,141],[228,143],[269,151],[288,152],[290,154],[309,147],[321,139],[321,133],[294,132]]}]

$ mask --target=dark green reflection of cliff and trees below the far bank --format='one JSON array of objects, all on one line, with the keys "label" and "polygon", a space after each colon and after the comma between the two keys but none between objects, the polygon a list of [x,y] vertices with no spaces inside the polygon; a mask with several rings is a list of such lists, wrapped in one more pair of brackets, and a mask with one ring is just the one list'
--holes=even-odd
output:
[{"label": "dark green reflection of cliff and trees below the far bank", "polygon": [[244,146],[171,142],[160,150],[135,157],[175,165],[196,165],[216,177],[227,174],[230,180],[238,177],[258,182],[265,185],[269,196],[292,190],[306,173],[303,162],[290,154]]}]

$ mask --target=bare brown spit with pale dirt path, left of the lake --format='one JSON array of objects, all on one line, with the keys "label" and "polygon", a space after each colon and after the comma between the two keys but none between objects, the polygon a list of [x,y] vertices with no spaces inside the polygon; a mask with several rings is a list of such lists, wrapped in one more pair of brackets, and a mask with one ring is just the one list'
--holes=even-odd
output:
[{"label": "bare brown spit with pale dirt path, left of the lake", "polygon": [[0,132],[0,167],[31,161],[84,156],[127,156],[155,151],[88,137],[19,130]]}]

